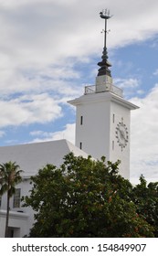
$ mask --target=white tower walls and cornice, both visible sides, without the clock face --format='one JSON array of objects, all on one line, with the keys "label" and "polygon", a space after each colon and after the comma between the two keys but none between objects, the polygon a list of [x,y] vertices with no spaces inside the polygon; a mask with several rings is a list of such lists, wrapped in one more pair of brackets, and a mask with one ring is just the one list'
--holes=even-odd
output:
[{"label": "white tower walls and cornice, both visible sides, without the clock face", "polygon": [[[104,155],[112,162],[121,160],[121,176],[130,178],[130,138],[127,146],[121,151],[116,139],[116,125],[123,118],[130,137],[131,110],[136,109],[137,106],[111,91],[86,94],[68,102],[77,107],[76,145],[79,147],[81,143],[82,150],[94,158],[100,159]],[[80,124],[81,116],[82,124]],[[114,150],[112,141],[114,141]]]}]

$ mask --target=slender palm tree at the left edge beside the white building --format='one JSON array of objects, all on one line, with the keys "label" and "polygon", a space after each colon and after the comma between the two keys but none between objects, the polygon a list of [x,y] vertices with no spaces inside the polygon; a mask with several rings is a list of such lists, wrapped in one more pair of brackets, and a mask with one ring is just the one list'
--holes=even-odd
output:
[{"label": "slender palm tree at the left edge beside the white building", "polygon": [[7,162],[0,165],[0,196],[7,193],[6,221],[5,221],[5,238],[8,237],[8,221],[9,221],[9,202],[16,192],[16,184],[20,183],[22,170],[19,169],[16,162]]}]

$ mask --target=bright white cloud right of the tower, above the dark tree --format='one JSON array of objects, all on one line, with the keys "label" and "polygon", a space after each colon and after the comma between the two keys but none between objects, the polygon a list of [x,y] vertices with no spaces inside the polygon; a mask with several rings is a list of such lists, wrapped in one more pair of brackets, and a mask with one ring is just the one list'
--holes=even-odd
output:
[{"label": "bright white cloud right of the tower, above the dark tree", "polygon": [[140,106],[132,112],[132,178],[143,174],[158,180],[158,84],[143,99],[132,99]]}]

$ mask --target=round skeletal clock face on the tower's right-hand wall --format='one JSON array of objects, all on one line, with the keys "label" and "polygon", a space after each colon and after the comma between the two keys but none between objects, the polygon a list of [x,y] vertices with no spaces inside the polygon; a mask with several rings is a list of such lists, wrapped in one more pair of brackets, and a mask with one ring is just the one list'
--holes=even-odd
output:
[{"label": "round skeletal clock face on the tower's right-hand wall", "polygon": [[127,126],[122,121],[119,122],[116,126],[116,138],[117,138],[118,144],[121,146],[121,151],[122,151],[129,141],[129,133],[128,133]]}]

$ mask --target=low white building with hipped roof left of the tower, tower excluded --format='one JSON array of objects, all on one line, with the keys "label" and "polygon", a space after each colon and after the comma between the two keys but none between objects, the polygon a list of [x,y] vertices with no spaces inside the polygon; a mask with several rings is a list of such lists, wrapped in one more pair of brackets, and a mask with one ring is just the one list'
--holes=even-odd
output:
[{"label": "low white building with hipped roof left of the tower, tower excluded", "polygon": [[[24,237],[34,222],[31,208],[23,208],[20,198],[29,194],[30,176],[37,174],[39,168],[47,164],[59,166],[63,157],[73,152],[74,155],[88,155],[66,140],[37,144],[21,144],[0,147],[0,163],[15,162],[25,172],[22,183],[16,185],[16,194],[10,200],[9,233],[10,237]],[[6,194],[0,203],[0,238],[5,236]]]}]

